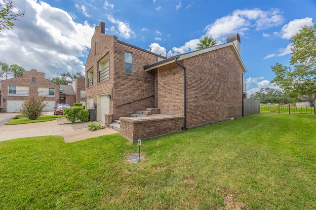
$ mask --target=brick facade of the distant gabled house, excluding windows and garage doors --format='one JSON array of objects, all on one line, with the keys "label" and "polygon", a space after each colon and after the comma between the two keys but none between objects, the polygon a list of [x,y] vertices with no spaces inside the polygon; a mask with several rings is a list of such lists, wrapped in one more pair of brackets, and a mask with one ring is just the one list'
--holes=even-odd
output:
[{"label": "brick facade of the distant gabled house, excluding windows and garage doors", "polygon": [[[36,83],[32,83],[32,77],[36,77]],[[44,73],[37,70],[23,71],[22,76],[18,76],[11,79],[2,80],[1,82],[1,107],[3,112],[6,112],[6,102],[2,103],[3,98],[6,100],[27,100],[29,96],[8,96],[8,86],[24,86],[29,87],[29,96],[38,96],[38,88],[54,88],[55,97],[46,97],[46,101],[55,101],[59,99],[59,85],[44,78]]]}]

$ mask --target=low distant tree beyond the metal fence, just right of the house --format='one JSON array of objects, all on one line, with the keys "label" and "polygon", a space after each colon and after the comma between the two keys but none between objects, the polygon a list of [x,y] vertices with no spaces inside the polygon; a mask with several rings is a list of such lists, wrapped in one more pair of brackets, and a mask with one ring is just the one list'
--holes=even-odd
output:
[{"label": "low distant tree beyond the metal fence, just right of the house", "polygon": [[259,91],[250,95],[250,99],[259,100],[260,103],[285,104],[289,102],[289,96],[274,88],[260,88]]}]

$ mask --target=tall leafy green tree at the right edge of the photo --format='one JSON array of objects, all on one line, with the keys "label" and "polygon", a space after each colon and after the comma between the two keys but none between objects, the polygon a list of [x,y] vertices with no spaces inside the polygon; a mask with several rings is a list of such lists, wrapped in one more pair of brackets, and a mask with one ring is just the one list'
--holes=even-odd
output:
[{"label": "tall leafy green tree at the right edge of the photo", "polygon": [[295,92],[306,95],[311,101],[316,100],[316,25],[304,26],[292,36],[290,65],[276,63],[272,67],[276,77],[271,81],[285,93]]}]

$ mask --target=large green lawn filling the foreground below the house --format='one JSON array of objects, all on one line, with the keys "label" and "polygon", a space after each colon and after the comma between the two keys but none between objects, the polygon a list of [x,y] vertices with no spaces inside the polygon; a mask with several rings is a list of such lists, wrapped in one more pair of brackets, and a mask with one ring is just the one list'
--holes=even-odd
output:
[{"label": "large green lawn filling the foreground below the house", "polygon": [[143,140],[0,142],[0,209],[316,209],[316,117],[260,113]]}]

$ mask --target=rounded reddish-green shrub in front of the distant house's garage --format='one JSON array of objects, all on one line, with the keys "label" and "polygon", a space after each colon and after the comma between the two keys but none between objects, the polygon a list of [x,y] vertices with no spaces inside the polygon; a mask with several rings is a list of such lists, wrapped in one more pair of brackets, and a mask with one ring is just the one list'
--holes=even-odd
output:
[{"label": "rounded reddish-green shrub in front of the distant house's garage", "polygon": [[26,117],[29,120],[36,120],[39,117],[43,116],[45,111],[44,108],[47,106],[47,103],[44,103],[45,97],[30,97],[29,100],[23,101],[19,112],[22,117]]}]

